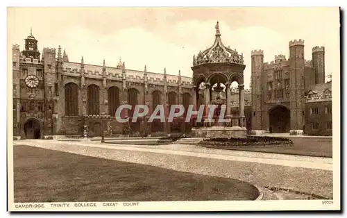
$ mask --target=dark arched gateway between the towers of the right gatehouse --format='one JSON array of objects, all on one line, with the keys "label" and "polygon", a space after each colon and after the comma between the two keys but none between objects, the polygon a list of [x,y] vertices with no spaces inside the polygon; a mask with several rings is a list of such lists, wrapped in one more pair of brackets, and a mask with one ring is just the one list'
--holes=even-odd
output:
[{"label": "dark arched gateway between the towers of the right gatehouse", "polygon": [[289,133],[290,110],[285,106],[276,106],[269,111],[270,133]]}]

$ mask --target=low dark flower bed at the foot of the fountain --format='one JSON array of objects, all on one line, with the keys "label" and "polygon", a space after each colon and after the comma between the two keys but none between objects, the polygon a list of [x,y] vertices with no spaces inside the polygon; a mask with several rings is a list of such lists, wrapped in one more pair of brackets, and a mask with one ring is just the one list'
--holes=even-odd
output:
[{"label": "low dark flower bed at the foot of the fountain", "polygon": [[201,145],[219,146],[293,146],[293,142],[282,137],[248,136],[246,138],[204,139]]}]

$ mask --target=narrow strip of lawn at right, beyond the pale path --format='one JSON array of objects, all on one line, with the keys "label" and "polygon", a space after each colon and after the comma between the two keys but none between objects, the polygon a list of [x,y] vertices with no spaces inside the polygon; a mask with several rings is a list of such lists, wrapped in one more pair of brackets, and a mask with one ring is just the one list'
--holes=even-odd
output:
[{"label": "narrow strip of lawn at right, beyond the pale path", "polygon": [[[267,153],[283,153],[291,155],[301,156],[316,156],[332,158],[332,141],[326,138],[314,138],[314,137],[288,137],[293,141],[294,146],[270,146],[270,147],[251,147],[251,146],[235,146],[228,147],[230,150],[239,151],[257,151]],[[215,146],[201,145],[216,149]],[[219,149],[224,149],[223,146],[219,146]]]}]

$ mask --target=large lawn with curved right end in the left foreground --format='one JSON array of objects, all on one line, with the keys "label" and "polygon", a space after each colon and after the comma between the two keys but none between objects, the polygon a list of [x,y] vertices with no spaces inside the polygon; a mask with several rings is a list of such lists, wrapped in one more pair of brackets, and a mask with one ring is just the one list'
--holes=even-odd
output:
[{"label": "large lawn with curved right end in the left foreground", "polygon": [[[15,202],[253,200],[248,183],[14,146]],[[208,161],[208,159],[206,159]]]}]

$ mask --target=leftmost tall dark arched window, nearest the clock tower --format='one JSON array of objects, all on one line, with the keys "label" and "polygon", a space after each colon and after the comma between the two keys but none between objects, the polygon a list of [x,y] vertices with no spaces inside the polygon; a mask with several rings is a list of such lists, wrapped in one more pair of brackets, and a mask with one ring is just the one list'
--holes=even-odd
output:
[{"label": "leftmost tall dark arched window, nearest the clock tower", "polygon": [[65,115],[78,115],[78,85],[67,83],[65,85]]}]

